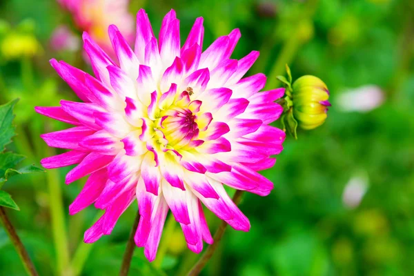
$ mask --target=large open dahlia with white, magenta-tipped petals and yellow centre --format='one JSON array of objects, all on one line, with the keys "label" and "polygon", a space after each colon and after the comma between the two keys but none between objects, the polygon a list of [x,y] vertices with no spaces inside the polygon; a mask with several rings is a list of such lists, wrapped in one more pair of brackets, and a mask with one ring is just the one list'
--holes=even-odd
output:
[{"label": "large open dahlia with white, magenta-tipped petals and yellow centre", "polygon": [[268,126],[282,113],[274,101],[284,88],[259,92],[265,75],[243,78],[259,52],[230,59],[240,38],[237,29],[202,52],[201,17],[181,47],[174,10],[164,17],[159,39],[146,12],[138,12],[135,50],[116,26],[108,32],[117,61],[83,34],[95,77],[51,61],[83,102],[62,100],[61,106],[36,108],[75,125],[41,135],[48,146],[70,149],[41,164],[78,164],[66,175],[66,184],[89,175],[69,213],[95,203],[105,214],[86,231],[85,242],[109,235],[135,199],[141,215],[135,242],[150,261],[168,210],[196,253],[203,240],[213,243],[201,203],[236,230],[249,230],[247,217],[224,185],[268,195],[273,184],[257,171],[275,164],[270,155],[281,152],[285,138],[282,130]]}]

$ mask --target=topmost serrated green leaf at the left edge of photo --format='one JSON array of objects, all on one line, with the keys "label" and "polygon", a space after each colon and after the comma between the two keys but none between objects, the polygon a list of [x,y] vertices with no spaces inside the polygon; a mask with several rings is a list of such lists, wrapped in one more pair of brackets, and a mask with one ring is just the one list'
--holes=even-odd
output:
[{"label": "topmost serrated green leaf at the left edge of photo", "polygon": [[14,99],[0,106],[0,152],[3,152],[4,147],[10,144],[12,137],[15,135],[12,121],[14,118],[13,107],[17,101],[19,99]]}]

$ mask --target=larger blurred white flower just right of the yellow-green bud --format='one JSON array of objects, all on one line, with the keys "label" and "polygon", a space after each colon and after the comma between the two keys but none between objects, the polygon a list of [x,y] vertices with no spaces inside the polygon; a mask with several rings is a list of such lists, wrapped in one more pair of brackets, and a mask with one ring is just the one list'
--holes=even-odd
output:
[{"label": "larger blurred white flower just right of the yellow-green bud", "polygon": [[381,106],[383,102],[384,92],[375,85],[347,90],[336,98],[336,106],[344,112],[368,112]]}]

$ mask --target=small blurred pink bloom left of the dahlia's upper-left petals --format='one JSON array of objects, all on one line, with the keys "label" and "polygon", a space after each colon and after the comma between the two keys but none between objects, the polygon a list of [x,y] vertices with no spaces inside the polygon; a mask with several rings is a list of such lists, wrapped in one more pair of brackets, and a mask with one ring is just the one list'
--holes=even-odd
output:
[{"label": "small blurred pink bloom left of the dahlia's upper-left petals", "polygon": [[81,40],[77,37],[68,26],[58,26],[50,37],[50,46],[52,50],[66,50],[75,52],[81,46]]}]

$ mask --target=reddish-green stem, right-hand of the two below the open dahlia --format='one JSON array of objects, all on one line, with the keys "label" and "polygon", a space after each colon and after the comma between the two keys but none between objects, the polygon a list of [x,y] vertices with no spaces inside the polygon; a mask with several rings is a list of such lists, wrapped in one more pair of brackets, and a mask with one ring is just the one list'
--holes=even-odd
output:
[{"label": "reddish-green stem, right-hand of the two below the open dahlia", "polygon": [[[243,195],[242,190],[236,191],[235,195],[233,196],[233,202],[236,205],[239,204],[240,199],[242,199],[242,195]],[[219,242],[224,235],[224,230],[226,230],[227,225],[228,224],[226,221],[221,221],[221,224],[213,237],[214,243],[208,246],[206,252],[204,252],[204,254],[200,257],[198,262],[193,266],[193,268],[191,268],[190,272],[188,273],[188,276],[199,275],[201,270],[203,270],[204,266],[206,266],[208,260],[210,260],[210,258],[213,257],[213,253],[215,252],[217,246],[219,245]]]}]

